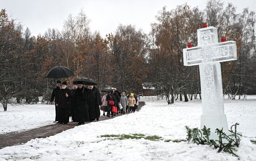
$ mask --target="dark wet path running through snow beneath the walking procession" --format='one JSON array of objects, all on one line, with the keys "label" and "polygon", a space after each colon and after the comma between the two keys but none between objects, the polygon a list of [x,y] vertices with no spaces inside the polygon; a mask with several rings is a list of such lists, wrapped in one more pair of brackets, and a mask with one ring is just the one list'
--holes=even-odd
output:
[{"label": "dark wet path running through snow beneath the walking procession", "polygon": [[[138,110],[145,105],[145,102],[140,102]],[[115,117],[121,116],[122,114],[116,115]],[[114,117],[114,118],[115,118]],[[112,119],[111,117],[108,118],[106,116],[101,116],[99,121]],[[86,122],[88,124],[90,122]],[[68,124],[52,124],[48,126],[43,126],[38,129],[27,130],[20,133],[7,133],[0,135],[0,149],[8,146],[18,145],[21,143],[25,143],[31,139],[35,138],[46,138],[48,136],[53,136],[55,134],[61,133],[64,130],[72,129],[75,126],[79,126],[77,123],[68,123]]]}]

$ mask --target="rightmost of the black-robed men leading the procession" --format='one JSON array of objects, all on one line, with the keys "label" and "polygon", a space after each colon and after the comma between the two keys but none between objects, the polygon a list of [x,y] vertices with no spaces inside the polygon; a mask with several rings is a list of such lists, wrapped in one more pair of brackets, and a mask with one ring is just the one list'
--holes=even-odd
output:
[{"label": "rightmost of the black-robed men leading the procession", "polygon": [[88,87],[88,111],[90,116],[90,121],[94,121],[95,118],[98,121],[101,115],[100,105],[101,102],[101,93],[98,88],[89,85]]}]

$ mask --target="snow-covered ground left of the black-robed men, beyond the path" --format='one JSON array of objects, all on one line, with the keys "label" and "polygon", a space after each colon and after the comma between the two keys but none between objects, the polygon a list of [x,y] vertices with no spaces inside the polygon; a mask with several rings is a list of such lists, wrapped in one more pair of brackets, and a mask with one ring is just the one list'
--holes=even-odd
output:
[{"label": "snow-covered ground left of the black-robed men, beyond the path", "polygon": [[1,106],[0,108],[0,134],[55,124],[54,105],[8,104],[7,111],[3,111]]}]

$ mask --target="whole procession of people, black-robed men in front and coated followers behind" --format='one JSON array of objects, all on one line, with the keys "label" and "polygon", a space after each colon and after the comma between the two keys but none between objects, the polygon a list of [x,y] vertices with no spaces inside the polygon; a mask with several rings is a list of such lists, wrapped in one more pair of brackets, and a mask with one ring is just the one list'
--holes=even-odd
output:
[{"label": "whole procession of people, black-robed men in front and coated followers behind", "polygon": [[[61,86],[62,85],[62,86]],[[55,121],[57,124],[67,124],[69,117],[72,122],[84,124],[98,121],[101,115],[114,117],[118,113],[135,112],[139,105],[139,96],[133,93],[126,95],[115,90],[101,94],[97,87],[83,85],[83,82],[73,82],[72,90],[67,88],[67,82],[57,81],[50,104],[55,103]],[[116,108],[116,111],[114,110]],[[107,112],[107,114],[105,114]]]}]

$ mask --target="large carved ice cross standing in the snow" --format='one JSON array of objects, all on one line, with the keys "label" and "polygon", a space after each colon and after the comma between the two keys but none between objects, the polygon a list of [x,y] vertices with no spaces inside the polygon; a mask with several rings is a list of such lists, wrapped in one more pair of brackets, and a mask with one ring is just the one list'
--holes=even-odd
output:
[{"label": "large carved ice cross standing in the snow", "polygon": [[202,93],[201,129],[205,125],[211,128],[212,132],[216,128],[228,131],[220,62],[236,60],[236,42],[218,43],[217,28],[211,26],[197,30],[197,44],[196,47],[183,49],[183,59],[185,66],[199,65]]}]

